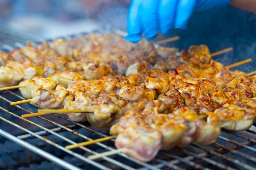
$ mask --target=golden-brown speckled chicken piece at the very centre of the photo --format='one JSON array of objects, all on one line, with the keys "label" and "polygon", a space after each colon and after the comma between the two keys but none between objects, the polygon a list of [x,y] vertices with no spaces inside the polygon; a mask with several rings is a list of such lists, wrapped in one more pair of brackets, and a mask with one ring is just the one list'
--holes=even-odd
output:
[{"label": "golden-brown speckled chicken piece at the very centre of the photo", "polygon": [[129,100],[130,103],[140,102],[145,99],[154,100],[156,91],[148,89],[145,85],[130,86],[121,88],[118,94],[120,97]]}]

